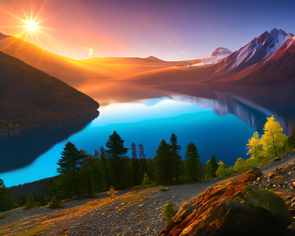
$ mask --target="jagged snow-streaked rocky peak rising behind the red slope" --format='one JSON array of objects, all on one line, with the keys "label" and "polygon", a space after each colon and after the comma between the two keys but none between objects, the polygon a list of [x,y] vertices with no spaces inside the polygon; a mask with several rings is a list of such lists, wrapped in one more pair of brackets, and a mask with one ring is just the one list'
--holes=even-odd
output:
[{"label": "jagged snow-streaked rocky peak rising behind the red slope", "polygon": [[274,53],[287,39],[293,37],[292,33],[273,28],[265,31],[258,38],[254,38],[244,47],[233,52],[230,56],[220,60],[215,73],[239,72]]}]

